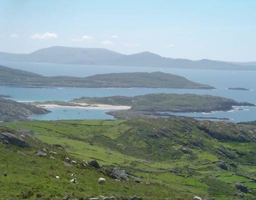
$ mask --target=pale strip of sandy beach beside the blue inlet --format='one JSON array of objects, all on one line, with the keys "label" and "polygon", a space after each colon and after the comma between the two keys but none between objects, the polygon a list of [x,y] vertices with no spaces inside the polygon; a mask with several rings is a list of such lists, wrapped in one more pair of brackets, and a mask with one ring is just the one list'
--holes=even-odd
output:
[{"label": "pale strip of sandy beach beside the blue inlet", "polygon": [[57,104],[38,104],[37,106],[46,107],[46,108],[47,107],[63,107],[63,108],[79,108],[79,109],[117,109],[117,110],[131,108],[131,106],[128,106],[128,105],[86,104],[86,103],[76,103],[76,104],[78,105],[69,106],[69,105],[57,105]]}]

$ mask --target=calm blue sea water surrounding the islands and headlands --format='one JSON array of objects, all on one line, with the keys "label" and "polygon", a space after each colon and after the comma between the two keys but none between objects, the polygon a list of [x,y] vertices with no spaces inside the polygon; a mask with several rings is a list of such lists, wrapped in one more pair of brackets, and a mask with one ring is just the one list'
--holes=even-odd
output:
[{"label": "calm blue sea water surrounding the islands and headlands", "polygon": [[[112,96],[126,95],[134,96],[147,93],[196,93],[212,94],[237,101],[247,101],[256,103],[256,71],[234,71],[234,70],[204,70],[204,69],[173,69],[160,67],[127,67],[127,66],[95,66],[95,65],[73,65],[73,64],[49,64],[49,63],[25,63],[25,62],[0,62],[13,68],[24,69],[42,75],[72,75],[72,76],[89,76],[99,73],[110,72],[133,72],[133,71],[163,71],[185,76],[186,78],[209,84],[217,89],[198,90],[198,89],[172,89],[172,88],[22,88],[0,86],[0,93],[13,96],[14,100],[21,101],[45,101],[45,100],[70,100],[81,96]],[[227,87],[245,87],[251,90],[229,90]],[[56,119],[64,117],[70,118],[106,118],[109,119],[105,111],[92,110],[91,113],[80,111],[77,115],[73,108],[67,109],[70,114],[63,112],[62,109],[53,109],[52,113],[43,115],[43,119]],[[83,114],[82,114],[83,113]],[[214,116],[231,118],[233,121],[256,120],[256,109],[246,107],[246,110],[235,110],[232,112],[213,112],[210,114],[203,113],[176,113],[188,116]],[[68,116],[69,115],[69,116]],[[30,118],[41,119],[41,115],[32,115]],[[112,117],[111,117],[112,118]]]}]

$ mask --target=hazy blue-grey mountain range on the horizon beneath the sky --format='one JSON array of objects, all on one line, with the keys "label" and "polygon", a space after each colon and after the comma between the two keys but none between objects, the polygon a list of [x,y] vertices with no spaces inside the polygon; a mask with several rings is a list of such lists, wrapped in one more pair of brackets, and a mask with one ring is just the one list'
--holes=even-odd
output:
[{"label": "hazy blue-grey mountain range on the horizon beneath the sky", "polygon": [[174,59],[169,57],[162,57],[158,54],[147,51],[125,55],[105,48],[78,48],[65,46],[42,48],[29,54],[0,52],[0,61],[256,70],[256,62],[226,62],[210,59]]}]

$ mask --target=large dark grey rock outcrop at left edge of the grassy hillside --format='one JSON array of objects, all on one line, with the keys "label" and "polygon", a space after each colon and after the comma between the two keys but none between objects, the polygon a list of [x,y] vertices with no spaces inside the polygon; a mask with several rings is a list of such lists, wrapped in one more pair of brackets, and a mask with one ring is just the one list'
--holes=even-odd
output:
[{"label": "large dark grey rock outcrop at left edge of the grassy hillside", "polygon": [[13,144],[19,147],[26,147],[28,146],[28,143],[24,141],[23,138],[18,137],[15,134],[12,134],[10,132],[1,132],[0,133],[0,142],[7,143],[7,144]]}]

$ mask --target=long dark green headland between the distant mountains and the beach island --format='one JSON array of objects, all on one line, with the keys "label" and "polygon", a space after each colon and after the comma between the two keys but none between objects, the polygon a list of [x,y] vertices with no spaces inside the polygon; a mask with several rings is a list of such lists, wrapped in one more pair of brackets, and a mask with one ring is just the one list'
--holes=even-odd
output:
[{"label": "long dark green headland between the distant mountains and the beach island", "polygon": [[6,66],[0,66],[0,85],[214,89],[210,85],[196,83],[185,77],[163,72],[108,73],[88,77],[42,76]]}]

